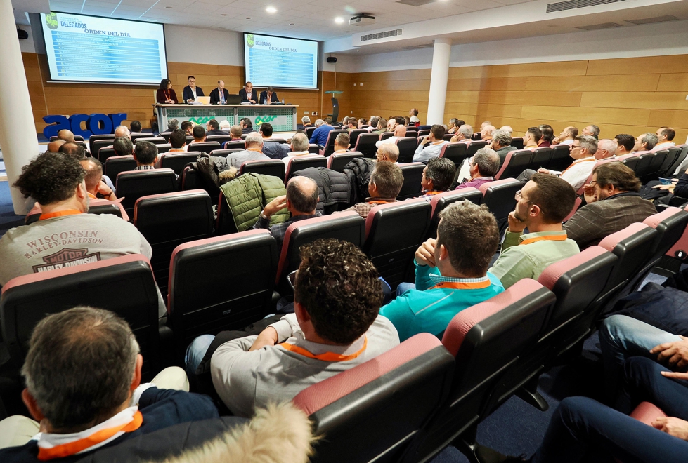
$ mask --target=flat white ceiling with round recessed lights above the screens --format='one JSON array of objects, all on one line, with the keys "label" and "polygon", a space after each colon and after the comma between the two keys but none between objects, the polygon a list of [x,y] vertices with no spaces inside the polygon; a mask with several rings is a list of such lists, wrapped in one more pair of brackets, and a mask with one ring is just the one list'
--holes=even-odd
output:
[{"label": "flat white ceiling with round recessed lights above the screens", "polygon": [[[394,27],[530,0],[437,0],[423,6],[396,0],[51,0],[52,11],[138,19],[206,29],[229,29],[329,40],[381,27]],[[266,7],[277,8],[267,13]],[[375,16],[375,24],[350,26],[355,13]],[[336,24],[335,18],[344,18]],[[250,18],[250,19],[248,19]]]}]

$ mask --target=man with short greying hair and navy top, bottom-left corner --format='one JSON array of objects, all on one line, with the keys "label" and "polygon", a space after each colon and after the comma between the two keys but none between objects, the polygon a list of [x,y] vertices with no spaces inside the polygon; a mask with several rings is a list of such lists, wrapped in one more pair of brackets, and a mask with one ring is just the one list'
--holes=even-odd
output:
[{"label": "man with short greying hair and navy top, bottom-left corner", "polygon": [[219,417],[209,397],[186,392],[181,368],[141,384],[142,365],[134,333],[110,311],[75,307],[43,318],[22,368],[22,401],[36,421],[0,422],[0,434],[27,434],[23,445],[0,449],[0,460],[76,462],[159,429]]}]

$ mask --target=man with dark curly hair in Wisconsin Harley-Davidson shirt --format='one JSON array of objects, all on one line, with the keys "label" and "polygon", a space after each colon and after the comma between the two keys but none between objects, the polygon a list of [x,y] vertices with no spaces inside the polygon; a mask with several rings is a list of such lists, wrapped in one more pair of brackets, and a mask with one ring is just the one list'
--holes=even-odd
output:
[{"label": "man with dark curly hair in Wisconsin Harley-Davidson shirt", "polygon": [[79,161],[56,153],[41,154],[23,168],[14,187],[36,199],[41,217],[0,239],[0,286],[15,276],[121,255],[150,259],[150,245],[134,225],[112,214],[86,214],[85,174]]}]

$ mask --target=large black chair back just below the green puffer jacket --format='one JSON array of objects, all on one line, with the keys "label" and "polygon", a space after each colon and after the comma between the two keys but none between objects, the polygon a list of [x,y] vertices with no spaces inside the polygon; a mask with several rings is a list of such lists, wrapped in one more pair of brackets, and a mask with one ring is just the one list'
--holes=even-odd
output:
[{"label": "large black chair back just below the green puffer jacket", "polygon": [[167,287],[176,358],[183,358],[197,336],[240,330],[270,314],[277,262],[277,245],[268,230],[177,246]]}]

